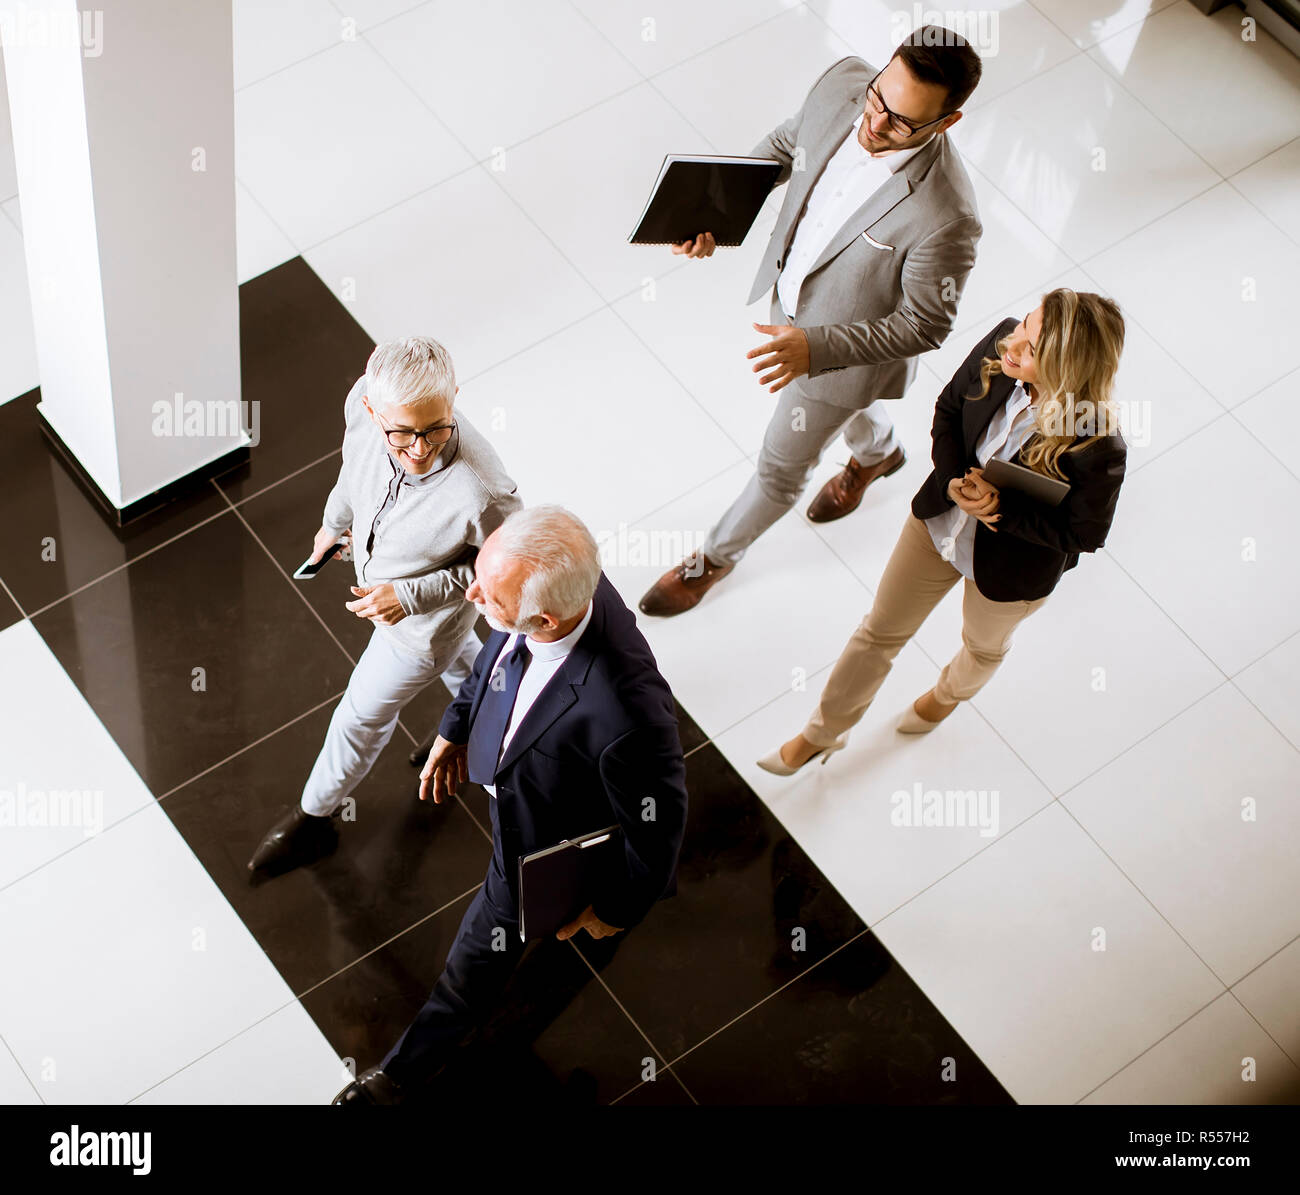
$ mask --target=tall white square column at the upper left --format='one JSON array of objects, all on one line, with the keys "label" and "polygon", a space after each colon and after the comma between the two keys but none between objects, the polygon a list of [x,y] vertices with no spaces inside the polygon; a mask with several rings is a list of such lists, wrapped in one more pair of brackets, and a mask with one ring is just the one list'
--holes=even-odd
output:
[{"label": "tall white square column at the upper left", "polygon": [[250,443],[230,5],[0,0],[39,410],[118,511]]}]

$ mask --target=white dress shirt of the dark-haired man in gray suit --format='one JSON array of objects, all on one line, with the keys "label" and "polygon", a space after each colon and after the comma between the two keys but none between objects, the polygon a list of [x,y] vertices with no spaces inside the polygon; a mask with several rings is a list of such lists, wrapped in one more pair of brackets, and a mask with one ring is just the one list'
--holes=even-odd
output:
[{"label": "white dress shirt of the dark-haired man in gray suit", "polygon": [[803,280],[831,238],[913,153],[930,143],[927,138],[910,150],[894,150],[872,157],[858,142],[862,116],[859,112],[840,148],[831,155],[794,230],[794,241],[790,242],[785,265],[776,280],[776,298],[786,316],[793,316],[798,309]]}]

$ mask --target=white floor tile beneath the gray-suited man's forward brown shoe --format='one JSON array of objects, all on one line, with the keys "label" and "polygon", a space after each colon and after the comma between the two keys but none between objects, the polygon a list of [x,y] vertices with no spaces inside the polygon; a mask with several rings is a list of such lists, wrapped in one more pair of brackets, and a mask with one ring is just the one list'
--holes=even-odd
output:
[{"label": "white floor tile beneath the gray-suited man's forward brown shoe", "polygon": [[[604,571],[629,607],[681,562],[682,547],[702,545],[751,475],[741,462],[630,525],[625,547],[611,544]],[[802,518],[789,514],[694,610],[637,622],[682,706],[715,735],[833,661],[867,599]]]}]

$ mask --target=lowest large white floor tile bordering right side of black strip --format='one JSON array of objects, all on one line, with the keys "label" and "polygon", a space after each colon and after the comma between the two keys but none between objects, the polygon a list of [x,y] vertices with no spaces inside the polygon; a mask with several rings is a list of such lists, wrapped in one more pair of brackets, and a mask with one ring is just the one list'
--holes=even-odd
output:
[{"label": "lowest large white floor tile bordering right side of black strip", "polygon": [[1223,991],[1058,802],[874,930],[1022,1104],[1082,1099]]}]

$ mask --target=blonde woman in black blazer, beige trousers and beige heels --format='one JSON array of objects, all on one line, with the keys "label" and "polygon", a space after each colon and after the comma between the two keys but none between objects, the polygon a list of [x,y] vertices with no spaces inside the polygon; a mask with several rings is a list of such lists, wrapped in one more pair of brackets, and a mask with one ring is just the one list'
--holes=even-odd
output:
[{"label": "blonde woman in black blazer, beige trousers and beige heels", "polygon": [[[807,726],[760,767],[789,776],[848,741],[893,659],[962,577],[962,648],[898,722],[926,733],[974,697],[1079,553],[1105,542],[1126,447],[1112,397],[1124,321],[1101,295],[1061,287],[1006,319],[939,395],[935,468],[885,566],[871,612],[831,671]],[[1060,506],[984,480],[992,458],[1069,482]]]}]

